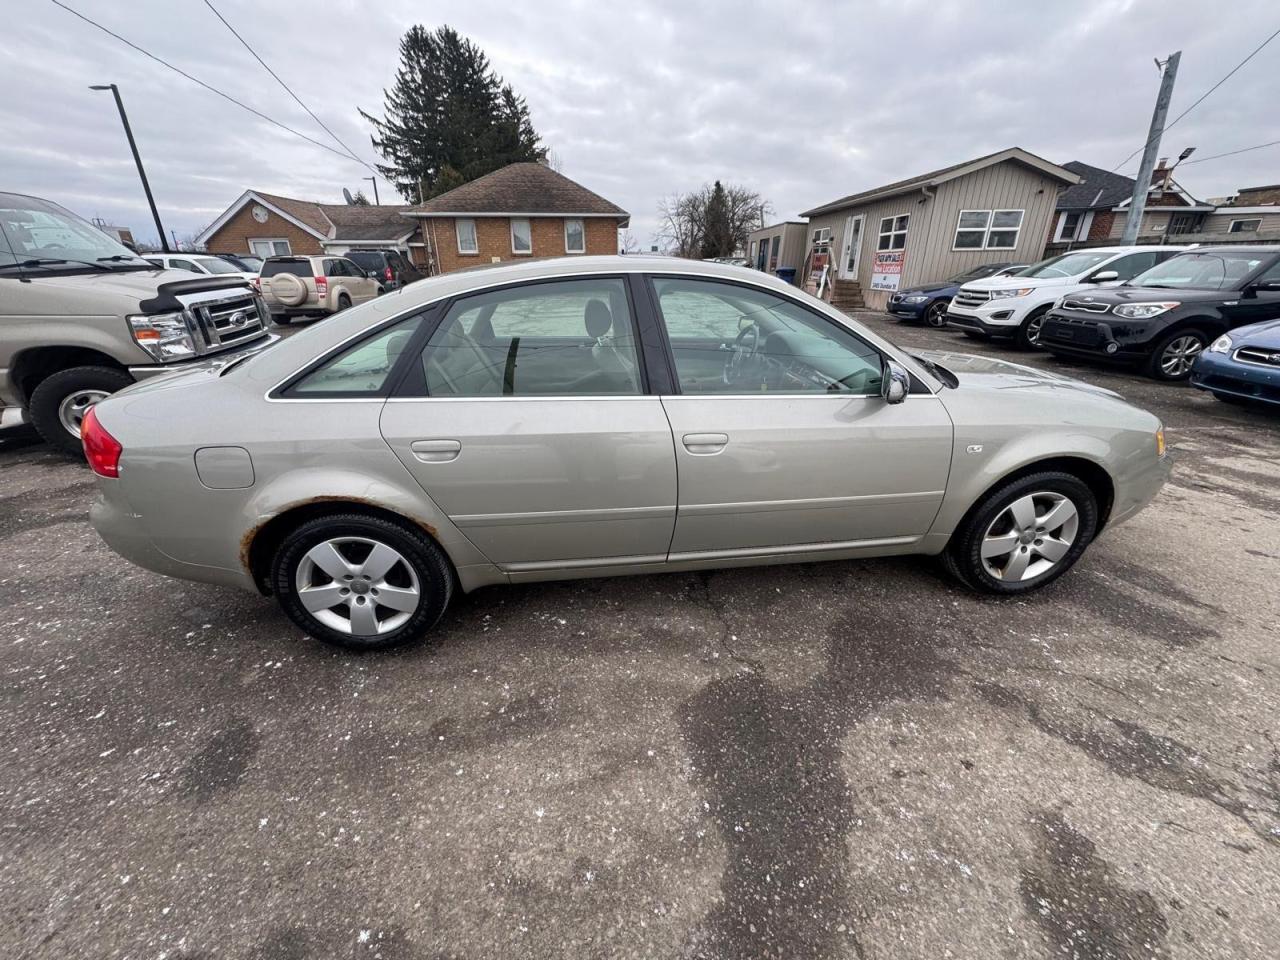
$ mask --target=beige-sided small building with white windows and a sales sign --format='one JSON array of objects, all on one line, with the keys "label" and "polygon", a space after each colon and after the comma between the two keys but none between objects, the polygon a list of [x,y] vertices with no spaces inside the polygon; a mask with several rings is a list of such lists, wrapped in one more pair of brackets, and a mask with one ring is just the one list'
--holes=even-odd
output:
[{"label": "beige-sided small building with white windows and a sales sign", "polygon": [[883,310],[890,296],[996,261],[1041,259],[1070,170],[1010,147],[808,210],[806,264],[831,260],[832,302]]}]

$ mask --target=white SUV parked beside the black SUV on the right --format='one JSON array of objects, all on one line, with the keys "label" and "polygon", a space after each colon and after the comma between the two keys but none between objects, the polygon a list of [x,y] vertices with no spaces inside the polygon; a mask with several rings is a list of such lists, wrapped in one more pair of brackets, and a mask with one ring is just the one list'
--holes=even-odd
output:
[{"label": "white SUV parked beside the black SUV on the right", "polygon": [[1069,293],[1115,287],[1188,247],[1089,247],[1032,264],[1014,276],[966,283],[947,307],[947,326],[968,337],[1012,339],[1032,348],[1044,316]]}]

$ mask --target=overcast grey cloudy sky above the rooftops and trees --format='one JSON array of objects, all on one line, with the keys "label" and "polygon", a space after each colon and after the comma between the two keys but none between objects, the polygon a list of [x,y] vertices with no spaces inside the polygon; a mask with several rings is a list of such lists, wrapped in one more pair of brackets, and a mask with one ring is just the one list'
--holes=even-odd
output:
[{"label": "overcast grey cloudy sky above the rooftops and trees", "polygon": [[[328,142],[204,0],[65,1]],[[645,248],[663,196],[717,178],[750,184],[783,219],[1006,146],[1115,166],[1146,136],[1160,79],[1152,58],[1183,51],[1172,118],[1280,28],[1274,0],[212,3],[370,163],[357,106],[380,110],[407,27],[449,23],[527,99],[562,172],[631,211]],[[343,187],[367,188],[369,170],[355,161],[244,113],[49,0],[3,8],[0,189],[154,236],[110,93],[88,90],[108,82],[120,86],[161,218],[179,237],[247,187],[329,202]],[[436,12],[444,19],[425,19]],[[1161,152],[1194,146],[1197,160],[1280,140],[1277,102],[1280,38],[1169,131]],[[1199,197],[1276,183],[1280,146],[1179,174]]]}]

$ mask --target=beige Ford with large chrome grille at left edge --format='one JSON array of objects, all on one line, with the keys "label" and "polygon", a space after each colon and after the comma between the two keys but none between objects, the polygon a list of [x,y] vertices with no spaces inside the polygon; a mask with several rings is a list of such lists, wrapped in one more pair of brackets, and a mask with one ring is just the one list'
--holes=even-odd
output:
[{"label": "beige Ford with large chrome grille at left edge", "polygon": [[0,193],[0,406],[59,449],[81,454],[88,408],[134,380],[279,339],[268,319],[239,275],[157,270],[56,204]]}]

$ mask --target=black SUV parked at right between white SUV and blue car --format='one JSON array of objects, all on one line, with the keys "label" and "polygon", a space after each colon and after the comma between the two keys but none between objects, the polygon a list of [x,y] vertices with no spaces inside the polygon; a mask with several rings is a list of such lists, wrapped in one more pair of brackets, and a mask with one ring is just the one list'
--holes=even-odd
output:
[{"label": "black SUV parked at right between white SUV and blue car", "polygon": [[1280,317],[1280,248],[1199,247],[1114,291],[1069,294],[1041,330],[1053,353],[1142,364],[1185,380],[1192,364],[1236,326]]}]

